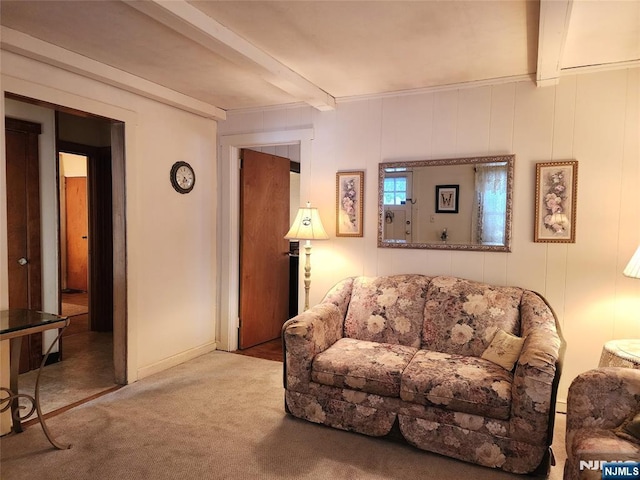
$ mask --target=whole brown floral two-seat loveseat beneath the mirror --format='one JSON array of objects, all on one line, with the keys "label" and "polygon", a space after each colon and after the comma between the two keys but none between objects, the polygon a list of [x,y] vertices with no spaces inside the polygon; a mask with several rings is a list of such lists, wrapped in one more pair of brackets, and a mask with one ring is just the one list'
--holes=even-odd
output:
[{"label": "whole brown floral two-seat loveseat beneath the mirror", "polygon": [[[498,332],[523,339],[513,369],[482,358]],[[283,344],[295,417],[371,436],[399,429],[423,450],[509,472],[548,469],[564,341],[532,291],[352,277],[285,323]]]}]

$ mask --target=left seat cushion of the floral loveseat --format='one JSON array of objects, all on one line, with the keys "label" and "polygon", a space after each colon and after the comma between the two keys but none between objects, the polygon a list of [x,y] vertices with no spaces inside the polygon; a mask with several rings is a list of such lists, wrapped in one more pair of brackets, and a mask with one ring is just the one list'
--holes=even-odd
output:
[{"label": "left seat cushion of the floral loveseat", "polygon": [[385,397],[400,396],[400,378],[417,348],[342,338],[313,359],[311,379]]}]

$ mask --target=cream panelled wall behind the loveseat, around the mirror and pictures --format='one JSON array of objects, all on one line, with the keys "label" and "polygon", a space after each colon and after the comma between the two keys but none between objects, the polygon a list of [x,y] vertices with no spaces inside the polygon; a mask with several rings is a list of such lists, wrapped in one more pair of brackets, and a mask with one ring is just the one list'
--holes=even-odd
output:
[{"label": "cream panelled wall behind the loveseat, around the mirror and pictures", "polygon": [[[451,274],[542,293],[567,353],[560,386],[596,367],[602,344],[640,337],[640,281],[622,270],[640,244],[640,70],[338,102],[333,112],[291,106],[229,112],[219,135],[314,129],[302,198],[318,206],[331,239],[315,242],[311,303],[349,275]],[[511,253],[377,247],[381,161],[515,154]],[[536,162],[579,162],[577,241],[533,242]],[[305,171],[306,168],[306,171]],[[335,237],[335,172],[365,171],[363,238]],[[222,179],[224,181],[224,179]],[[224,206],[223,206],[224,207]]]}]

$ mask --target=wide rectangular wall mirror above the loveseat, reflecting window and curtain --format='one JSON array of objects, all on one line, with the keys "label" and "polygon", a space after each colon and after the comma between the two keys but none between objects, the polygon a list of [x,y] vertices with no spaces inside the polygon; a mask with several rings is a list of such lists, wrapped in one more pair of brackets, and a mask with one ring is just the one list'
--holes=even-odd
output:
[{"label": "wide rectangular wall mirror above the loveseat, reflecting window and curtain", "polygon": [[380,163],[378,246],[509,252],[514,161]]}]

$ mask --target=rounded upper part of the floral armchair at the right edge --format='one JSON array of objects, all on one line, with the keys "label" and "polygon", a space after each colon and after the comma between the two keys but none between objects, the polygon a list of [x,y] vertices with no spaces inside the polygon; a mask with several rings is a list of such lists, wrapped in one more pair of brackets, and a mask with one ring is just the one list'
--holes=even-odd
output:
[{"label": "rounded upper part of the floral armchair at the right edge", "polygon": [[640,413],[640,370],[602,367],[578,375],[567,395],[567,434],[579,428],[611,429]]}]

